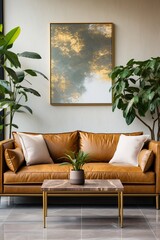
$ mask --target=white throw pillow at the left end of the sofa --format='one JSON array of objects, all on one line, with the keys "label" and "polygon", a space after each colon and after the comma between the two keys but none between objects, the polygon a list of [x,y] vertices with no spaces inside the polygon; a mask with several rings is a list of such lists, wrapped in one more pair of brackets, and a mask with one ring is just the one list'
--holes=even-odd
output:
[{"label": "white throw pillow at the left end of the sofa", "polygon": [[53,163],[41,134],[30,135],[17,132],[27,165]]}]

